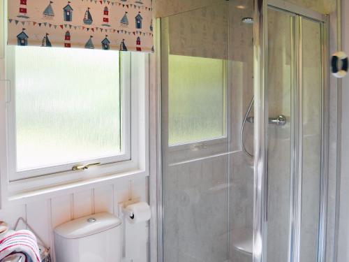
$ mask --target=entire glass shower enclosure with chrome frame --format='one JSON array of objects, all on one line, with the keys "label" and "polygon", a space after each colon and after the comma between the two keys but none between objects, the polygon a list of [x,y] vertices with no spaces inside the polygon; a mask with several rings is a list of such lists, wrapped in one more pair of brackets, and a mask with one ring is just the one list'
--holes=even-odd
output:
[{"label": "entire glass shower enclosure with chrome frame", "polygon": [[158,21],[159,261],[323,261],[327,27],[279,0]]}]

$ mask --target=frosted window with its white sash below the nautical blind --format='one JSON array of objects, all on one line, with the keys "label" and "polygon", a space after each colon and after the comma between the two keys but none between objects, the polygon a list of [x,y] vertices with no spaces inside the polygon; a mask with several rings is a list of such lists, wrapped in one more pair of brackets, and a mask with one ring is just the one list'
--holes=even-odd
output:
[{"label": "frosted window with its white sash below the nautical blind", "polygon": [[[69,177],[62,178],[66,182],[142,166],[145,57],[112,50],[8,47],[10,181],[57,174]],[[73,170],[89,163],[100,164],[89,172]]]}]

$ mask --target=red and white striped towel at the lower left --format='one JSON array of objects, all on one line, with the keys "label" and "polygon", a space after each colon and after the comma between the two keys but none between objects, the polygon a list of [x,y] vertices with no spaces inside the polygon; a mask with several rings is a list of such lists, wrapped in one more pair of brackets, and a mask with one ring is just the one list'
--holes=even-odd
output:
[{"label": "red and white striped towel at the lower left", "polygon": [[0,240],[0,260],[14,253],[25,254],[25,262],[40,262],[38,243],[31,231],[16,231]]}]

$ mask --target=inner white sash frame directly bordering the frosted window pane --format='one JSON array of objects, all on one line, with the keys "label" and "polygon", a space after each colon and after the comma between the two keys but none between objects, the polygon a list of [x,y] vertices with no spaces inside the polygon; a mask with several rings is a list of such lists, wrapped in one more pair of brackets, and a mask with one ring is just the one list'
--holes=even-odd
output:
[{"label": "inner white sash frame directly bordering the frosted window pane", "polygon": [[[26,47],[18,47],[26,48]],[[87,50],[93,52],[93,50]],[[6,79],[10,80],[10,94],[15,94],[15,46],[8,46],[6,48]],[[88,163],[100,162],[102,165],[107,163],[117,163],[121,161],[130,161],[135,159],[131,156],[131,54],[120,53],[120,96],[121,96],[121,152],[113,157],[83,159],[74,163],[65,163],[57,166],[47,166],[43,168],[34,168],[31,170],[20,170],[16,168],[16,112],[15,112],[15,95],[12,95],[8,101],[8,175],[10,181],[22,180],[30,177],[37,177],[40,175],[49,175],[54,173],[68,172],[73,166],[82,166]],[[137,94],[138,90],[133,90]],[[1,123],[3,124],[3,123]],[[133,133],[135,136],[135,133]],[[133,143],[135,144],[135,143]],[[135,148],[138,145],[133,145]]]}]

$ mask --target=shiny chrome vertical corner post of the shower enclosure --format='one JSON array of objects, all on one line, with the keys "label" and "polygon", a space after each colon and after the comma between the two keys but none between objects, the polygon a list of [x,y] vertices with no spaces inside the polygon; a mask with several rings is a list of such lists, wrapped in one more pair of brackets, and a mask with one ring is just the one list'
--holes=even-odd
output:
[{"label": "shiny chrome vertical corner post of the shower enclosure", "polygon": [[265,262],[267,254],[267,1],[255,0],[254,12],[253,262]]}]

